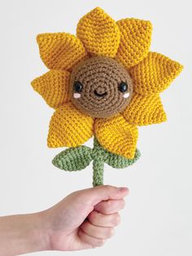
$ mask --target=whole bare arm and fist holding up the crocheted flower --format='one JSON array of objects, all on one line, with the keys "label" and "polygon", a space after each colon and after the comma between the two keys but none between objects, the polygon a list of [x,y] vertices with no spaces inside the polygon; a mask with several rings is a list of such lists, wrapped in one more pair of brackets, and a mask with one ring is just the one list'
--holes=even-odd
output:
[{"label": "whole bare arm and fist holding up the crocheted flower", "polygon": [[128,192],[109,185],[87,188],[47,210],[1,217],[0,256],[102,246],[120,223]]}]

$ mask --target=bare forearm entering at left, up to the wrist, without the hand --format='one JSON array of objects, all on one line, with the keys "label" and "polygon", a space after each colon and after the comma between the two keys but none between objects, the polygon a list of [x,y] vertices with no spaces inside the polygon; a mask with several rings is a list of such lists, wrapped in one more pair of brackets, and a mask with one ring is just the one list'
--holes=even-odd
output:
[{"label": "bare forearm entering at left, up to the wrist, without the hand", "polygon": [[49,236],[43,212],[0,218],[0,255],[19,255],[48,249]]}]

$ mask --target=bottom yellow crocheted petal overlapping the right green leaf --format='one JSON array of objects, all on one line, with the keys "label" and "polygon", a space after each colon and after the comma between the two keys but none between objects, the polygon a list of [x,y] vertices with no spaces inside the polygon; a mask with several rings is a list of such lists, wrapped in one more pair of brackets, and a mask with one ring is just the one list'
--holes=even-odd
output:
[{"label": "bottom yellow crocheted petal overlapping the right green leaf", "polygon": [[133,159],[137,144],[137,127],[120,114],[107,119],[96,119],[94,124],[98,142],[108,151]]}]

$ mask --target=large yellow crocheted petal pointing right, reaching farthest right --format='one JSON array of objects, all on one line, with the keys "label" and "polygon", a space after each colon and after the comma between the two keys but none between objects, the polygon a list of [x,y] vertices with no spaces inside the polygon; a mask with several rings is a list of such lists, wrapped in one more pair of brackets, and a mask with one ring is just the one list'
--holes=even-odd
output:
[{"label": "large yellow crocheted petal pointing right, reaching farthest right", "polygon": [[182,65],[156,52],[149,52],[142,62],[129,69],[134,91],[147,95],[165,90],[181,73]]}]

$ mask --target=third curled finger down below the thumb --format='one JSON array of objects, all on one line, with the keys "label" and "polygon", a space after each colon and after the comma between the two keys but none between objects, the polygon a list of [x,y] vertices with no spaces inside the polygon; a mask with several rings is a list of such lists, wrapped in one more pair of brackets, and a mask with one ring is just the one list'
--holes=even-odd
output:
[{"label": "third curled finger down below the thumb", "polygon": [[85,221],[81,224],[81,229],[85,234],[92,236],[97,239],[107,239],[113,236],[114,228],[113,227],[98,227],[89,223],[89,221]]}]

